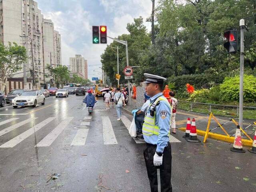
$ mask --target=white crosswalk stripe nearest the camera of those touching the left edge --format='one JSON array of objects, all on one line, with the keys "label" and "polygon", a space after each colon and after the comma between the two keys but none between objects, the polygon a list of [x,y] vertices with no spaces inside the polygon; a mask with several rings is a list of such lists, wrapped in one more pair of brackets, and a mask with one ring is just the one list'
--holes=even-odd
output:
[{"label": "white crosswalk stripe nearest the camera of those touching the left edge", "polygon": [[32,128],[30,128],[29,130],[26,130],[22,134],[14,137],[10,141],[2,144],[0,146],[0,148],[12,148],[12,147],[16,146],[17,144],[22,142],[24,139],[28,138],[30,135],[32,135],[35,132],[37,132],[38,130],[40,130],[42,127],[44,127],[46,124],[48,124],[49,122],[51,122],[54,119],[55,119],[55,117],[47,118],[46,120],[44,120],[44,121],[40,122],[39,124],[37,124],[37,125],[33,126]]}]

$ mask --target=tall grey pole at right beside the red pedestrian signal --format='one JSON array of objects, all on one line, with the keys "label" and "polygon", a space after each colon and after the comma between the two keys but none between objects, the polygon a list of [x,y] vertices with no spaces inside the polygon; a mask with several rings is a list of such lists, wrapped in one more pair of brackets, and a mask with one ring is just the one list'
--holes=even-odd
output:
[{"label": "tall grey pole at right beside the red pedestrian signal", "polygon": [[244,102],[244,19],[240,20],[240,92],[239,92],[239,125],[243,128]]}]

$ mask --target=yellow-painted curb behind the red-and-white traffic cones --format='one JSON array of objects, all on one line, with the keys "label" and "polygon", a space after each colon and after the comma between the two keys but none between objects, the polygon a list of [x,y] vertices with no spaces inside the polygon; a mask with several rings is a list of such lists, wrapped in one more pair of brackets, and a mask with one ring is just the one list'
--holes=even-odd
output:
[{"label": "yellow-painted curb behind the red-and-white traffic cones", "polygon": [[[179,130],[185,132],[186,128],[179,128]],[[202,131],[202,130],[198,130],[198,129],[196,131],[197,131],[198,135],[205,136],[206,131]],[[222,140],[222,141],[226,141],[226,142],[229,142],[229,143],[234,143],[234,140],[235,140],[234,137],[228,137],[226,135],[221,135],[221,134],[211,133],[211,132],[209,132],[209,134],[208,134],[208,138],[209,137],[212,138],[212,139]],[[244,146],[251,147],[252,146],[252,141],[248,140],[248,139],[242,139],[242,144]]]}]

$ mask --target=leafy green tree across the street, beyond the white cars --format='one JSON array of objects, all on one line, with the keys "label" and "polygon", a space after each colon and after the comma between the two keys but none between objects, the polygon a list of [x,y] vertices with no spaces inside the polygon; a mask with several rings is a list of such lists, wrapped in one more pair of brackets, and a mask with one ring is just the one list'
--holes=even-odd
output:
[{"label": "leafy green tree across the street, beyond the white cars", "polygon": [[58,87],[61,87],[61,85],[68,83],[68,81],[70,80],[70,71],[68,70],[67,66],[60,65],[56,68],[53,68],[49,64],[47,64],[46,69],[48,69],[49,72],[52,74],[54,82]]}]

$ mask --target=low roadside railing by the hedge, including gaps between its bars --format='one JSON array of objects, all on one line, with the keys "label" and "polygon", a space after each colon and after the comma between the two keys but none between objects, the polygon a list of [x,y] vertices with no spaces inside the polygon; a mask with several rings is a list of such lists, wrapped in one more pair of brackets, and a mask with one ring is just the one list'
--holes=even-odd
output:
[{"label": "low roadside railing by the hedge, including gaps between its bars", "polygon": [[[200,102],[190,102],[190,101],[178,101],[178,108],[185,109],[185,110],[191,110],[200,108],[203,110],[203,112],[212,112],[213,109],[219,109],[219,110],[230,110],[230,114],[236,114],[238,116],[239,114],[239,106],[234,105],[220,105],[220,104],[212,104],[212,103],[200,103]],[[244,110],[256,110],[256,107],[248,107],[244,106]]]}]

